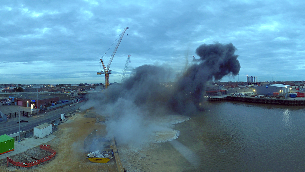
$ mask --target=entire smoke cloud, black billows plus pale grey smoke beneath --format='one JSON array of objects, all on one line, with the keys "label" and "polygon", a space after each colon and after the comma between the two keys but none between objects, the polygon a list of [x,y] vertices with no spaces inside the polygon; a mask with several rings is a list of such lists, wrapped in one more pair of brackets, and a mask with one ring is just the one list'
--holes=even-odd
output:
[{"label": "entire smoke cloud, black billows plus pale grey smoke beneath", "polygon": [[108,116],[108,135],[115,136],[118,143],[141,142],[171,127],[155,122],[158,118],[202,111],[200,103],[207,82],[238,74],[240,64],[235,51],[231,43],[200,45],[196,49],[200,58],[172,86],[162,84],[173,75],[170,68],[142,65],[134,69],[121,86],[109,86],[103,94],[91,98],[98,102],[95,107],[100,113]]}]

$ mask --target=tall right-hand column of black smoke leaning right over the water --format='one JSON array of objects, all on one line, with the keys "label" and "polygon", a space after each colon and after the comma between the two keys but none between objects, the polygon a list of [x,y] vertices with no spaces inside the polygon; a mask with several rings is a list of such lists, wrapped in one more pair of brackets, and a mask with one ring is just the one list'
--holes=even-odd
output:
[{"label": "tall right-hand column of black smoke leaning right over the water", "polygon": [[237,75],[240,64],[236,48],[230,44],[202,44],[196,49],[200,59],[187,68],[170,99],[170,107],[178,113],[193,114],[202,110],[199,103],[208,81],[220,80],[223,76]]}]

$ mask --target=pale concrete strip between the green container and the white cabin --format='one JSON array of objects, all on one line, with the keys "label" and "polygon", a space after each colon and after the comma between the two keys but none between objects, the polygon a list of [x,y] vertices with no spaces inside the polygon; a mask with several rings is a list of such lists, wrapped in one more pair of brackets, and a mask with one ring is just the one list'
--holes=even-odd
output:
[{"label": "pale concrete strip between the green container and the white cabin", "polygon": [[22,153],[24,151],[26,151],[27,149],[39,146],[40,144],[44,144],[49,142],[50,140],[53,140],[56,136],[51,134],[48,137],[44,137],[44,138],[24,138],[22,141],[20,142],[15,142],[15,150],[5,153],[5,154],[1,154],[0,155],[0,159],[5,159],[6,157],[10,157],[19,153]]}]

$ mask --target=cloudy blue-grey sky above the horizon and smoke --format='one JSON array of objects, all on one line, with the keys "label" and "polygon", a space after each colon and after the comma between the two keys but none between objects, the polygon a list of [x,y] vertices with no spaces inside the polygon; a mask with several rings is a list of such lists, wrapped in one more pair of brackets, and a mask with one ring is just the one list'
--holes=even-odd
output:
[{"label": "cloudy blue-grey sky above the horizon and smoke", "polygon": [[[120,82],[142,65],[181,73],[202,44],[229,44],[240,63],[221,81],[304,81],[304,1],[1,1],[0,83]],[[128,34],[128,35],[127,35]],[[112,46],[111,46],[112,45]],[[109,49],[109,50],[108,50]]]}]

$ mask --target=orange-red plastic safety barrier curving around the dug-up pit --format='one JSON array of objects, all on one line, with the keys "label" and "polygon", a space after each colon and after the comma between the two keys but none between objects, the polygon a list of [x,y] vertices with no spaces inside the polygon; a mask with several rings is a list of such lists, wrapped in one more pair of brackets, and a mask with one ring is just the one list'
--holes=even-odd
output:
[{"label": "orange-red plastic safety barrier curving around the dug-up pit", "polygon": [[39,148],[42,149],[42,150],[45,150],[45,151],[48,151],[48,152],[51,152],[52,154],[48,157],[45,157],[45,158],[42,158],[42,159],[39,159],[37,161],[34,161],[34,162],[31,162],[31,163],[21,163],[21,162],[16,162],[8,157],[7,160],[6,160],[6,165],[8,166],[8,162],[12,163],[13,165],[15,166],[19,166],[19,167],[32,167],[34,165],[37,165],[37,164],[40,164],[44,161],[47,161],[47,160],[50,160],[51,158],[53,158],[56,154],[56,151],[51,149],[51,146],[50,145],[39,145]]}]

